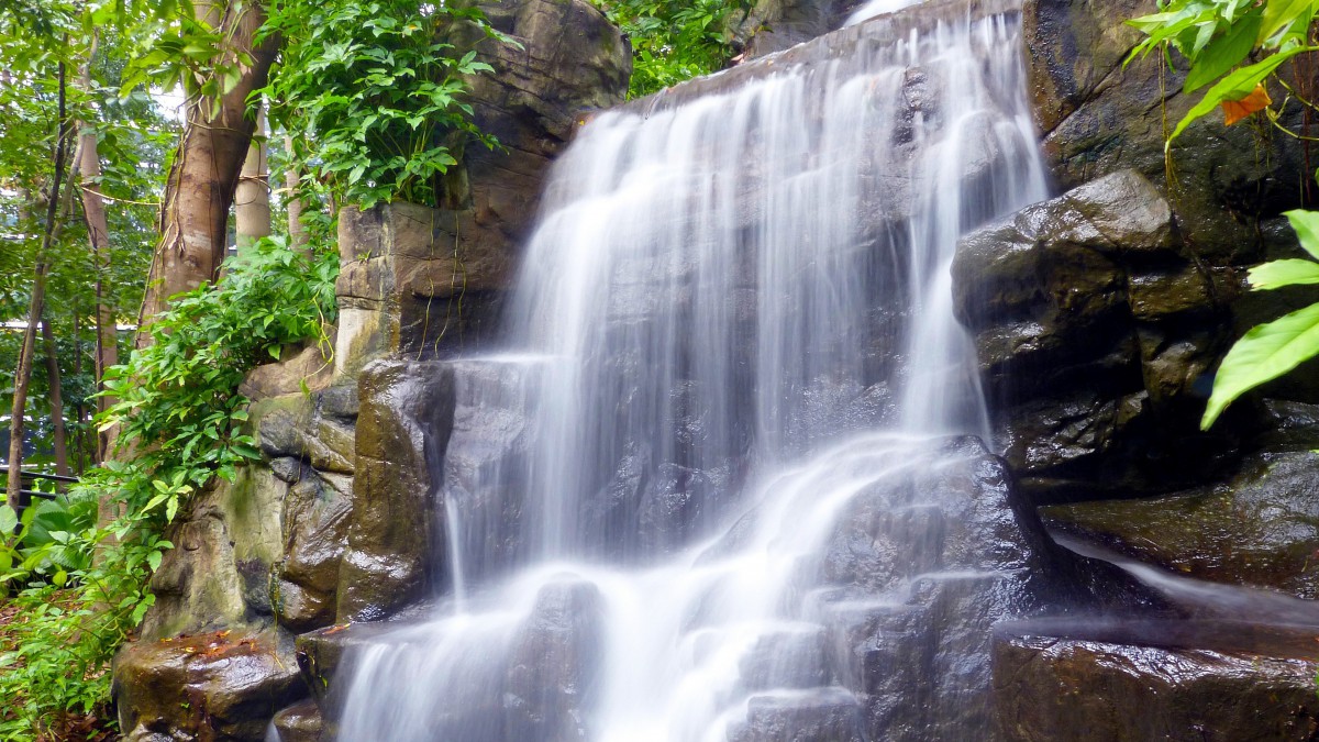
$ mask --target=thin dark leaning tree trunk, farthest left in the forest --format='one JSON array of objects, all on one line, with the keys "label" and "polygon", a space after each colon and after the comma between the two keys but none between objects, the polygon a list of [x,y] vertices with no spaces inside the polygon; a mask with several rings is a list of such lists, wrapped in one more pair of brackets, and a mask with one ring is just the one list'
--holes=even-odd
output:
[{"label": "thin dark leaning tree trunk, farthest left in the forest", "polygon": [[[65,42],[67,44],[67,36]],[[24,416],[28,413],[28,384],[32,382],[32,356],[36,355],[37,323],[41,322],[42,306],[46,301],[46,272],[49,271],[47,257],[50,246],[57,234],[57,219],[59,217],[59,186],[65,176],[65,162],[69,158],[69,141],[71,137],[70,120],[67,116],[65,63],[59,62],[59,107],[55,125],[55,168],[50,180],[50,194],[46,202],[46,228],[41,236],[41,247],[37,250],[36,267],[33,268],[32,298],[28,306],[28,326],[22,333],[22,345],[18,350],[18,368],[13,375],[13,409],[9,413],[9,507],[18,510],[25,504],[22,490],[22,438],[25,433]]]}]

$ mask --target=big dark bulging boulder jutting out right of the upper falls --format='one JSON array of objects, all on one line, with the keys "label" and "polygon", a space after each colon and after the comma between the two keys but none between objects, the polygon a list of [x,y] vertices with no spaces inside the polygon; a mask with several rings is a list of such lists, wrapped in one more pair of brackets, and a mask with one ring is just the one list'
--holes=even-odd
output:
[{"label": "big dark bulging boulder jutting out right of the upper falls", "polygon": [[952,273],[1008,461],[1043,498],[1066,496],[1059,481],[1149,487],[1212,450],[1198,421],[1239,279],[1194,259],[1138,173],[972,232]]}]

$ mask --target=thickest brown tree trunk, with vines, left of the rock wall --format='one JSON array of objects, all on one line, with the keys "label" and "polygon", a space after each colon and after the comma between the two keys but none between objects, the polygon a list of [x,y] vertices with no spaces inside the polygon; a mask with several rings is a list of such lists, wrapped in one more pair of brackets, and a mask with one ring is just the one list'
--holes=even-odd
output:
[{"label": "thickest brown tree trunk, with vines, left of the rock wall", "polygon": [[150,342],[148,325],[165,310],[169,297],[214,280],[224,260],[230,205],[256,127],[247,115],[247,99],[265,86],[280,46],[277,37],[253,46],[252,36],[264,18],[260,4],[230,4],[219,18],[220,33],[249,51],[252,66],[220,98],[214,116],[210,100],[195,99],[187,106],[183,137],[165,185],[161,242],[138,317],[138,347]]}]

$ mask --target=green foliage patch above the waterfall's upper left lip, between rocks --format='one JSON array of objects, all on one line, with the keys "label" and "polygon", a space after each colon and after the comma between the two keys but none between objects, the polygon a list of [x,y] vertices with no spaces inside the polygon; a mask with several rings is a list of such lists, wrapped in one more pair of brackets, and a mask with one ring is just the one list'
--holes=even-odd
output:
[{"label": "green foliage patch above the waterfall's upper left lip, between rocks", "polygon": [[592,0],[632,40],[628,98],[724,69],[737,53],[729,21],[752,0]]}]

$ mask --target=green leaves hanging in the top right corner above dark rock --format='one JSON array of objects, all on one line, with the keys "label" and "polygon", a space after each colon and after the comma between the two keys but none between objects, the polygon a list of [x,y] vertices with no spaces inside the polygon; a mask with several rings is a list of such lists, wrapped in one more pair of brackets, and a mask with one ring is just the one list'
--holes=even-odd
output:
[{"label": "green leaves hanging in the top right corner above dark rock", "polygon": [[[1167,0],[1159,3],[1158,13],[1128,21],[1146,36],[1128,62],[1171,46],[1190,62],[1182,92],[1213,83],[1178,121],[1169,147],[1186,127],[1220,106],[1248,102],[1244,115],[1272,103],[1261,88],[1264,82],[1282,62],[1319,50],[1310,29],[1316,11],[1319,0]],[[1262,51],[1262,58],[1246,63],[1256,51]]]}]

